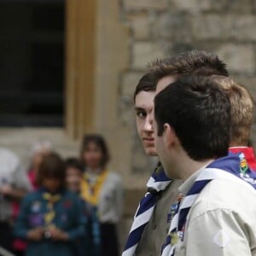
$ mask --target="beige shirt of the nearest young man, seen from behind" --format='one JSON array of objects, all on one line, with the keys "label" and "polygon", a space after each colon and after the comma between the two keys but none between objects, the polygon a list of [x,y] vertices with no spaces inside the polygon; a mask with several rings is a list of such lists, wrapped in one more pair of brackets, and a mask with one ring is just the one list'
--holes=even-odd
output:
[{"label": "beige shirt of the nearest young man, seen from behind", "polygon": [[[180,187],[186,195],[195,172]],[[231,180],[212,180],[191,207],[183,241],[175,256],[256,255],[256,191],[229,173]]]}]

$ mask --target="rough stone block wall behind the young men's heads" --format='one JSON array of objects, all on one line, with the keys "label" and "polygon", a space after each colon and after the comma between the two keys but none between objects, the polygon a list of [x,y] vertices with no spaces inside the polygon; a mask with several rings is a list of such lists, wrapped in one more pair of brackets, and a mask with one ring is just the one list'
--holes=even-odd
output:
[{"label": "rough stone block wall behind the young men's heads", "polygon": [[[152,171],[152,163],[137,139],[133,91],[148,61],[189,49],[205,49],[219,55],[230,74],[256,97],[256,2],[123,0],[120,3],[119,19],[130,27],[130,64],[120,74],[119,115],[124,125],[131,128],[131,174],[141,175],[144,181]],[[253,142],[255,135],[253,131]]]}]

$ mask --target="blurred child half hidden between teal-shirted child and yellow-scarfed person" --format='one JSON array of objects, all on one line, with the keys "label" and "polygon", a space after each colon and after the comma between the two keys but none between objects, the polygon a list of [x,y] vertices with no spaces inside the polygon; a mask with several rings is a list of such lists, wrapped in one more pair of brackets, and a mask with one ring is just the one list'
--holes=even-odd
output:
[{"label": "blurred child half hidden between teal-shirted child and yellow-scarfed person", "polygon": [[[76,158],[66,160],[66,183],[67,189],[79,195],[83,166]],[[91,207],[86,201],[80,198],[83,206],[85,224],[85,235],[77,241],[78,256],[98,256],[100,255],[100,224],[96,218],[96,208]]]}]

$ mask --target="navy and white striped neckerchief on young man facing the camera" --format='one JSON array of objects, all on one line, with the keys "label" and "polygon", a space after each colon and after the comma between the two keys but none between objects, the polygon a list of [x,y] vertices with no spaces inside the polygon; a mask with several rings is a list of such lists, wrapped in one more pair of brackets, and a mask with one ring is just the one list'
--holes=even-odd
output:
[{"label": "navy and white striped neckerchief on young man facing the camera", "polygon": [[132,256],[135,254],[137,245],[143,235],[143,230],[154,212],[157,194],[165,190],[170,183],[172,183],[172,180],[166,177],[165,171],[159,163],[148,180],[148,192],[137,208],[122,256]]}]

